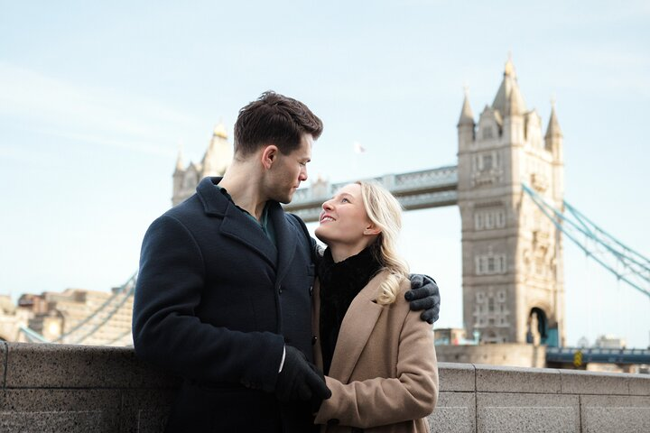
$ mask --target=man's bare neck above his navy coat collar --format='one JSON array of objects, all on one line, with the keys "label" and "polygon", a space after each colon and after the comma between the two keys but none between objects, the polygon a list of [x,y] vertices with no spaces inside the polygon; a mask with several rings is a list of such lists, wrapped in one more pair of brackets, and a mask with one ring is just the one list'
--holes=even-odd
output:
[{"label": "man's bare neck above his navy coat collar", "polygon": [[259,220],[268,198],[260,187],[261,176],[254,162],[254,158],[245,161],[233,159],[219,186],[228,191],[238,207]]}]

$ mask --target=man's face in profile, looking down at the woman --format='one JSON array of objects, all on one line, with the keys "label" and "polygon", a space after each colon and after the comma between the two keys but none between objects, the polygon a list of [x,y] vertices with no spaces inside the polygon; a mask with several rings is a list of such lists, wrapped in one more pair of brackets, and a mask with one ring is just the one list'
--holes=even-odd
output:
[{"label": "man's face in profile, looking down at the woman", "polygon": [[300,147],[288,155],[278,152],[268,178],[269,198],[289,203],[300,183],[307,180],[307,162],[311,161],[311,134],[302,135]]}]

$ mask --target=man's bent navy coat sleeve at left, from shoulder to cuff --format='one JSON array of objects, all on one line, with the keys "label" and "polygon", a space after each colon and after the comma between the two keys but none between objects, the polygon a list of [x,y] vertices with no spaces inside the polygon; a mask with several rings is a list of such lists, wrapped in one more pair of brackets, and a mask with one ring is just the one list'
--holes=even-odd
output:
[{"label": "man's bent navy coat sleeve at left, from shoulder to cuff", "polygon": [[190,231],[174,217],[155,220],[144,235],[135,288],[136,355],[184,378],[273,391],[282,336],[201,322],[194,310],[204,280],[205,263]]}]

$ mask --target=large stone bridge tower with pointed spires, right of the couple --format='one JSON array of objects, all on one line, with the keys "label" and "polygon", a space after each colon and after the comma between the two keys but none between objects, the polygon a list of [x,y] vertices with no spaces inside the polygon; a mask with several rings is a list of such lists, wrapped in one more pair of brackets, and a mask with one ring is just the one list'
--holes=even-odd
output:
[{"label": "large stone bridge tower with pointed spires, right of the couple", "polygon": [[562,208],[562,131],[552,106],[546,134],[506,62],[491,106],[474,121],[466,93],[458,123],[463,319],[483,343],[562,345],[560,231],[522,182]]}]

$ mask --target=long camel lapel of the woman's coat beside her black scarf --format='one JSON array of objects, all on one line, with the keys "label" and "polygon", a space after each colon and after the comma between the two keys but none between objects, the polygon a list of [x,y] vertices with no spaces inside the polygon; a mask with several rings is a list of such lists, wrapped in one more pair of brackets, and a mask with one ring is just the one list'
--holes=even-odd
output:
[{"label": "long camel lapel of the woman's coat beside her black scarf", "polygon": [[330,376],[343,383],[348,383],[358,358],[366,347],[367,340],[384,309],[384,306],[375,302],[377,290],[384,274],[385,272],[379,272],[359,292],[357,297],[352,300],[341,323],[339,338],[330,366]]}]

